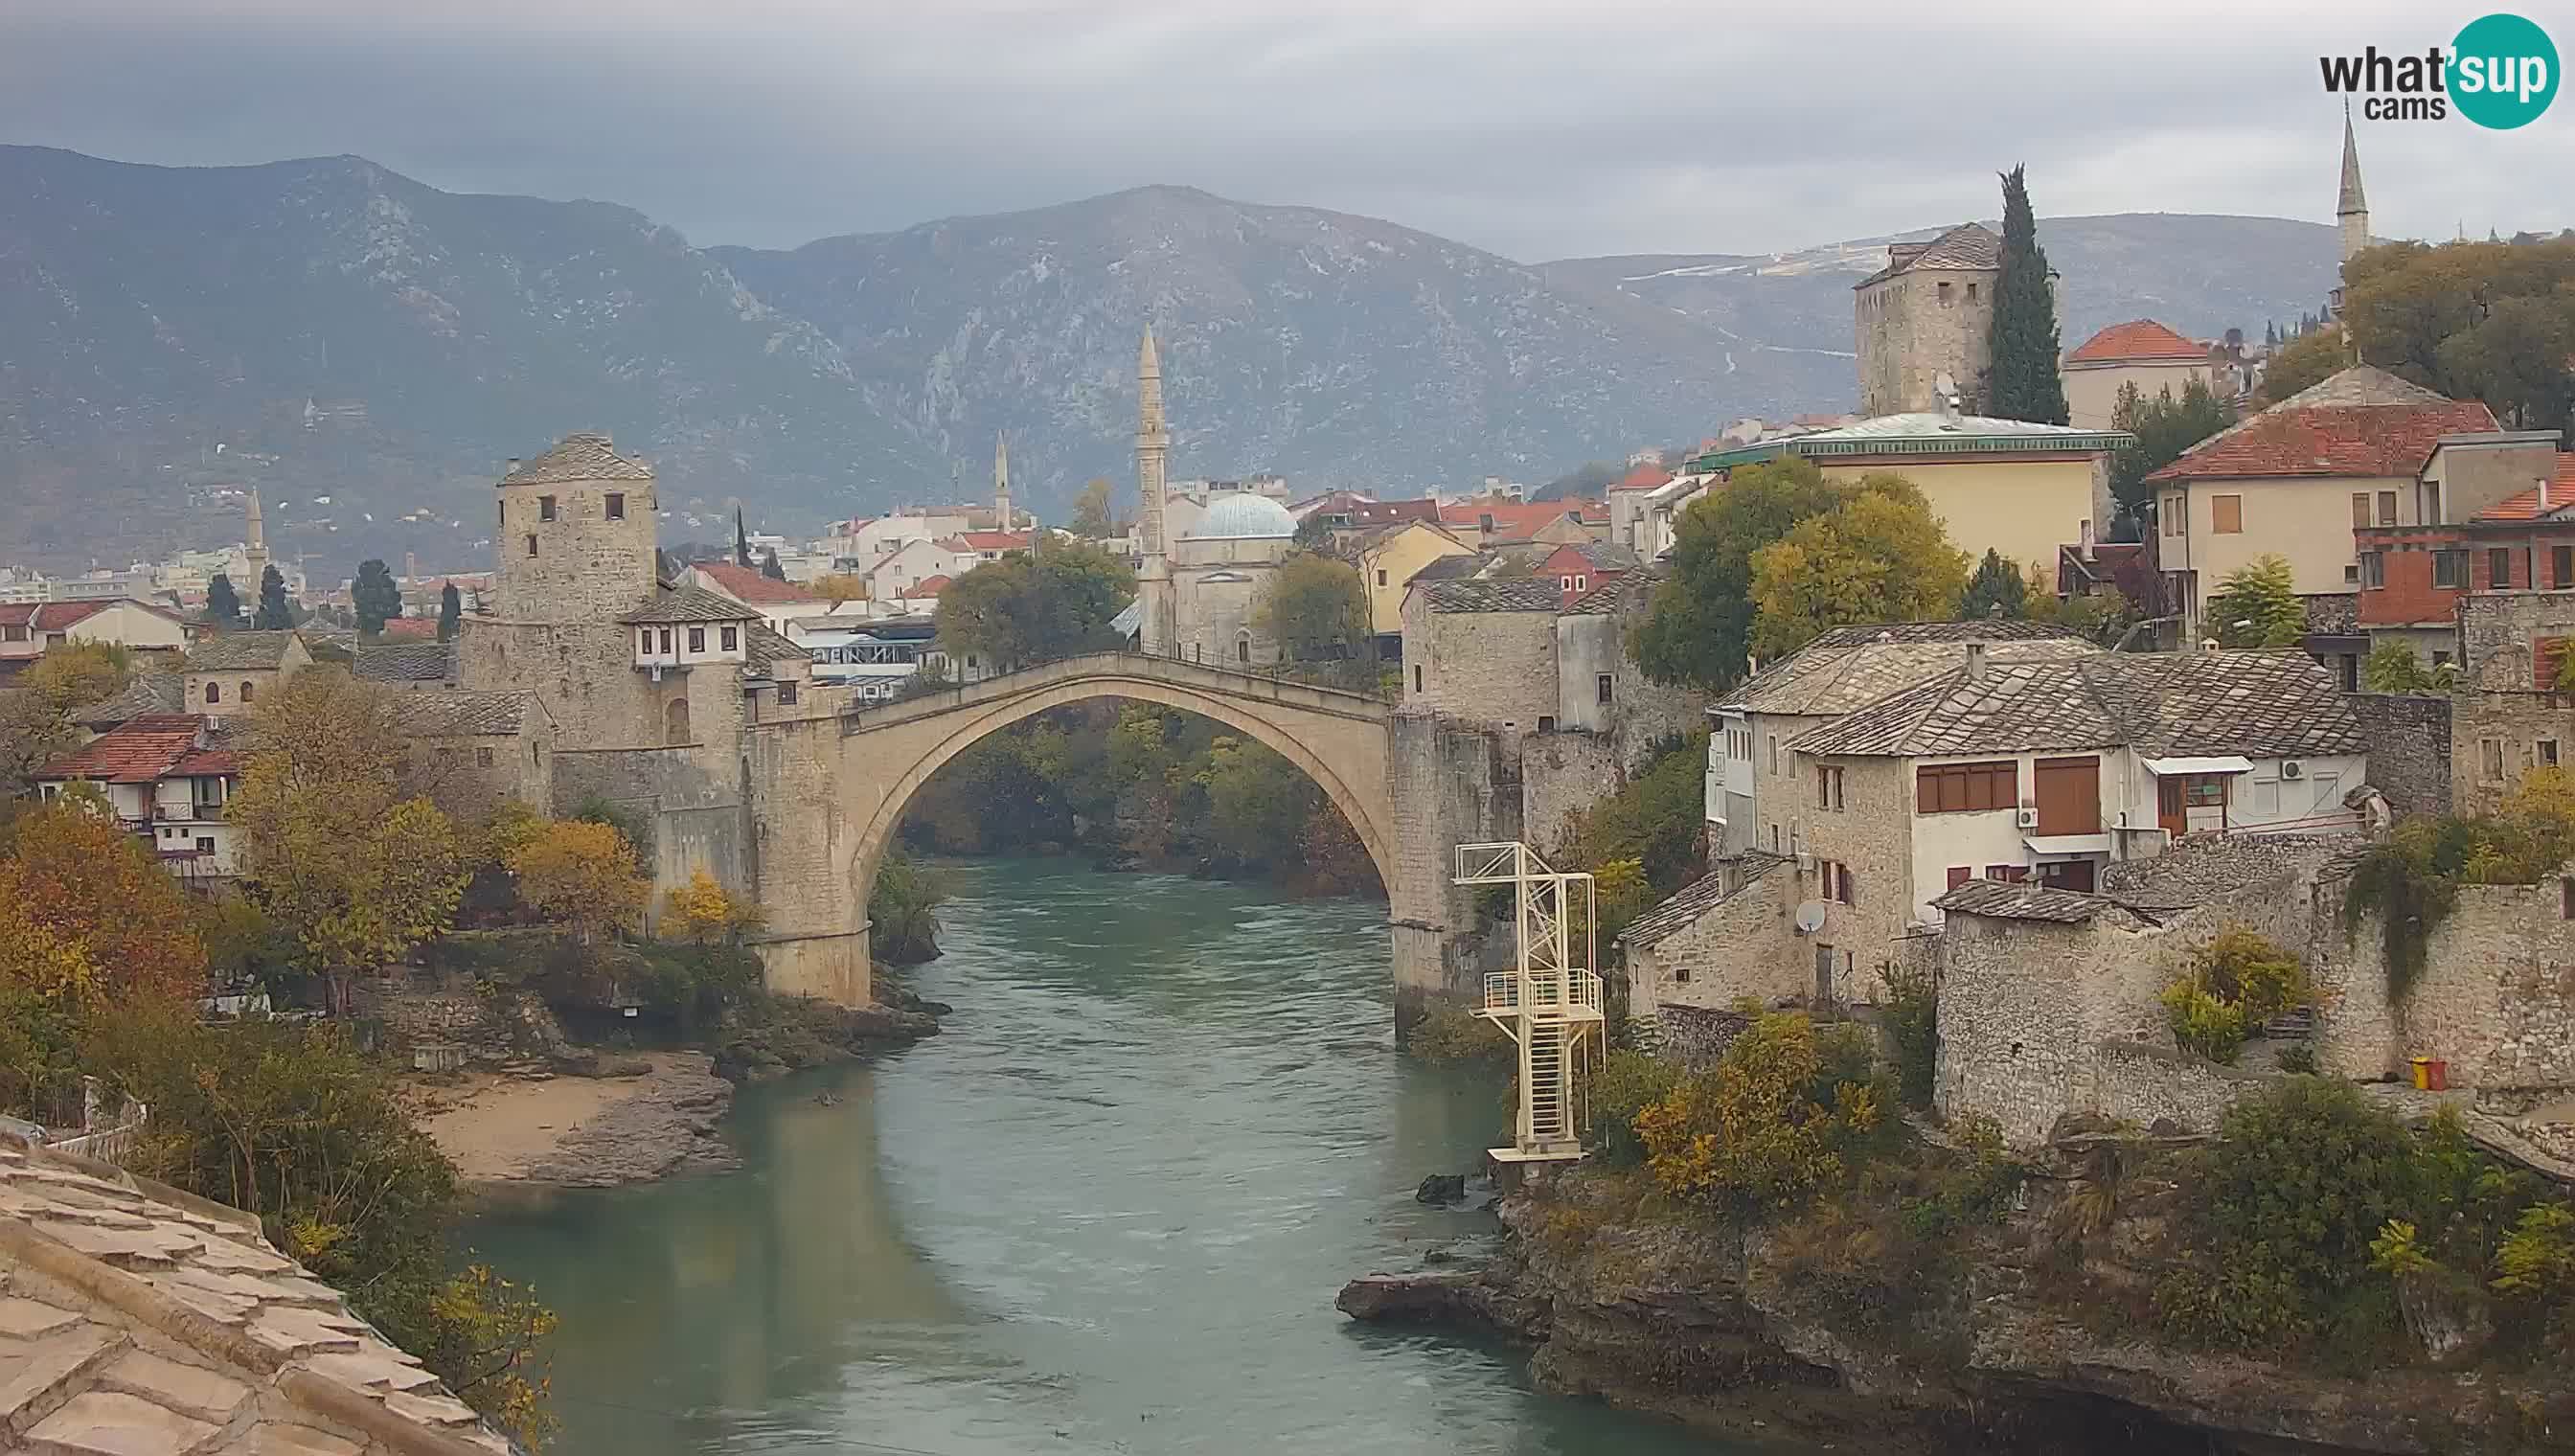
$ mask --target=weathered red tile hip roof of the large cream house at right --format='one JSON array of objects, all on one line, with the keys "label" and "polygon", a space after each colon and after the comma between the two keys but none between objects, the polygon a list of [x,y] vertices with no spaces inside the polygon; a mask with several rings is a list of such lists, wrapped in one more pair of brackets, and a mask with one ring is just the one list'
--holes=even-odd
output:
[{"label": "weathered red tile hip roof of the large cream house at right", "polygon": [[2230,425],[2145,479],[2410,477],[2441,436],[2495,428],[2475,399],[2444,399],[2354,366]]}]

